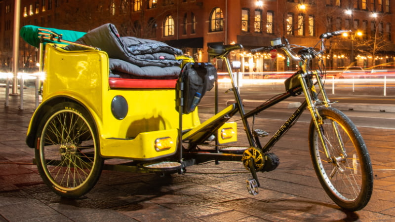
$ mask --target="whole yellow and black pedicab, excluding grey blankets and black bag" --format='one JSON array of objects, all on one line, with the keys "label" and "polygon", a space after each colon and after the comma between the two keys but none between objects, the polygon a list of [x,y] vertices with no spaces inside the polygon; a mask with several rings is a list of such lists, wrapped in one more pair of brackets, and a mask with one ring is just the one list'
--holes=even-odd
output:
[{"label": "whole yellow and black pedicab, excluding grey blankets and black bag", "polygon": [[[270,47],[253,50],[282,49],[292,59],[302,62],[302,66],[285,81],[286,92],[249,112],[244,111],[227,57],[242,46],[209,47],[211,57],[225,61],[232,82],[228,92],[234,92],[236,103],[200,123],[197,110],[183,114],[183,103],[174,98],[182,95],[180,79],[111,78],[106,52],[64,40],[54,31],[39,28],[40,58],[45,50],[45,66],[40,59],[40,70],[44,68],[46,78],[40,87],[42,102],[30,121],[26,143],[35,148],[35,162],[44,183],[64,197],[78,198],[87,193],[103,169],[184,174],[188,166],[211,160],[242,161],[253,177],[246,182],[247,190],[256,195],[260,186],[257,172],[275,170],[279,164],[278,157],[271,152],[272,147],[308,109],[313,117],[309,127],[310,153],[321,185],[341,208],[360,210],[368,203],[373,189],[367,148],[351,120],[330,107],[321,80],[324,70],[312,71],[308,65],[314,57],[323,54],[326,39],[343,32],[321,35],[319,51],[297,46],[301,48],[297,54],[290,44],[282,44],[279,39]],[[45,40],[50,43],[44,47]],[[67,51],[62,43],[76,44],[86,50]],[[263,130],[251,131],[248,118],[302,92],[305,102],[262,146],[260,137],[269,134]],[[237,126],[228,120],[237,113],[243,122],[248,147],[219,148],[235,142]],[[199,149],[213,138],[215,148]],[[105,163],[108,159],[124,162]]]}]

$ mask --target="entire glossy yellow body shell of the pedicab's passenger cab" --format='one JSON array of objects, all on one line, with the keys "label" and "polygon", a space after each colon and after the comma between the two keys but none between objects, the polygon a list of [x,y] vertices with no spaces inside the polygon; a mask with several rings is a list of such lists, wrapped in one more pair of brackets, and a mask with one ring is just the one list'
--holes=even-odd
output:
[{"label": "entire glossy yellow body shell of the pedicab's passenger cab", "polygon": [[[49,43],[45,48],[41,104],[67,97],[83,105],[97,126],[102,156],[151,160],[176,152],[179,115],[175,89],[110,89],[107,53],[66,51]],[[127,102],[123,119],[117,119],[111,111],[112,100],[119,95]],[[183,115],[183,129],[199,124],[197,109]],[[28,133],[31,126],[32,122]],[[174,143],[169,149],[157,151],[155,140],[162,137],[170,137]]]}]

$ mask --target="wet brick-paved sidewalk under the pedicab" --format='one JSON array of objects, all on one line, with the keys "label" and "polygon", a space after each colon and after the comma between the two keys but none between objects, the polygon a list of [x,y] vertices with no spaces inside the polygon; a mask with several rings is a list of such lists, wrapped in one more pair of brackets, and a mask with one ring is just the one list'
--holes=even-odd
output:
[{"label": "wet brick-paved sidewalk under the pedicab", "polygon": [[[25,133],[34,107],[26,102],[19,111],[18,100],[11,97],[10,107],[0,108],[0,221],[395,221],[394,130],[359,129],[375,182],[369,204],[354,213],[340,210],[319,185],[303,122],[276,144],[281,163],[275,171],[259,173],[257,196],[245,188],[251,176],[241,162],[210,162],[170,177],[103,171],[88,194],[69,200],[51,192],[32,164],[34,151],[25,145]],[[256,128],[268,132],[280,124],[260,120]]]}]

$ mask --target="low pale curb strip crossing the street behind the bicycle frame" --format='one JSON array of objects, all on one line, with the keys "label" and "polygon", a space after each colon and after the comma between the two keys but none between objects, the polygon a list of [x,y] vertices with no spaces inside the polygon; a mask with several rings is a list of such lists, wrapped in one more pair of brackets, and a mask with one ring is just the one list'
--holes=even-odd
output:
[{"label": "low pale curb strip crossing the street behind the bicycle frame", "polygon": [[[242,100],[242,102],[245,107],[257,107],[266,102],[266,100]],[[232,103],[236,103],[236,100],[226,101],[227,106]],[[295,109],[300,105],[300,102],[281,101],[273,107],[280,109]],[[395,104],[334,103],[332,107],[341,111],[395,112]]]}]

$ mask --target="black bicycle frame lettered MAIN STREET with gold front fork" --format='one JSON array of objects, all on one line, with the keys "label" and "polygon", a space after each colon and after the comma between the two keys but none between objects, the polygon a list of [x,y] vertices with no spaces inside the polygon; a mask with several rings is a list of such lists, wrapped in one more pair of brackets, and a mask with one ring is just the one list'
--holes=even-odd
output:
[{"label": "black bicycle frame lettered MAIN STREET with gold front fork", "polygon": [[[230,61],[229,61],[229,58],[227,57],[227,54],[229,52],[225,52],[224,54],[218,55],[218,56],[216,56],[216,58],[222,59],[226,64],[226,67],[228,69],[228,74],[229,74],[229,77],[231,79],[231,84],[232,84],[232,88],[229,91],[233,91],[233,93],[234,93],[234,96],[236,99],[236,104],[235,104],[236,108],[235,108],[235,110],[226,112],[225,114],[223,112],[216,114],[213,118],[207,120],[207,122],[209,122],[209,123],[206,123],[206,124],[208,124],[208,125],[221,124],[219,121],[221,118],[218,118],[217,116],[227,115],[228,119],[229,119],[234,114],[239,113],[241,121],[243,123],[243,127],[245,130],[246,136],[247,136],[249,146],[259,148],[259,149],[261,149],[262,153],[266,154],[271,150],[271,148],[273,148],[273,146],[276,144],[276,142],[278,140],[280,140],[281,137],[294,125],[294,123],[299,119],[299,117],[301,116],[303,111],[307,108],[310,111],[312,119],[313,119],[312,121],[314,122],[316,129],[319,132],[320,141],[321,141],[322,146],[324,147],[325,155],[326,155],[328,161],[331,162],[330,157],[329,157],[330,153],[329,153],[328,148],[326,147],[326,143],[324,142],[323,137],[322,137],[322,132],[320,129],[321,117],[319,116],[318,110],[317,110],[317,108],[319,106],[329,107],[330,101],[329,101],[328,97],[326,96],[324,85],[323,85],[321,77],[319,75],[320,73],[318,71],[313,71],[313,72],[307,71],[306,64],[307,64],[308,59],[307,58],[305,59],[304,65],[301,66],[301,71],[298,71],[295,73],[296,77],[299,79],[299,81],[301,83],[301,86],[293,89],[292,92],[286,91],[282,94],[279,94],[275,98],[261,104],[260,106],[256,107],[255,109],[245,112],[243,105],[242,105],[242,100],[241,100],[240,94],[238,92],[238,88],[236,86],[236,81],[235,81],[234,76],[231,72],[232,69],[231,69]],[[287,54],[289,54],[293,59],[299,60],[299,61],[301,60],[300,57],[296,57],[293,54],[291,54],[291,52],[289,50],[285,50],[285,52]],[[307,75],[315,76],[316,83],[313,83],[312,78],[306,78]],[[317,85],[317,87],[320,90],[322,101],[320,101],[318,99],[315,85]],[[295,96],[295,94],[293,92],[302,92],[302,91],[304,92],[304,95],[305,95],[305,101],[278,128],[278,130],[272,136],[272,138],[264,146],[262,146],[260,144],[258,136],[254,136],[253,132],[251,131],[251,128],[250,128],[250,125],[248,122],[248,118],[255,116],[259,112],[264,111],[283,100],[286,100],[290,96]],[[299,94],[300,93],[298,93],[297,95],[299,95]],[[336,129],[336,127],[334,127],[334,128]],[[206,127],[202,127],[199,129],[199,131],[201,131],[201,132],[206,131],[206,130],[207,130]],[[339,138],[339,141],[341,141],[341,138]],[[232,159],[233,159],[233,157],[232,157]]]}]

